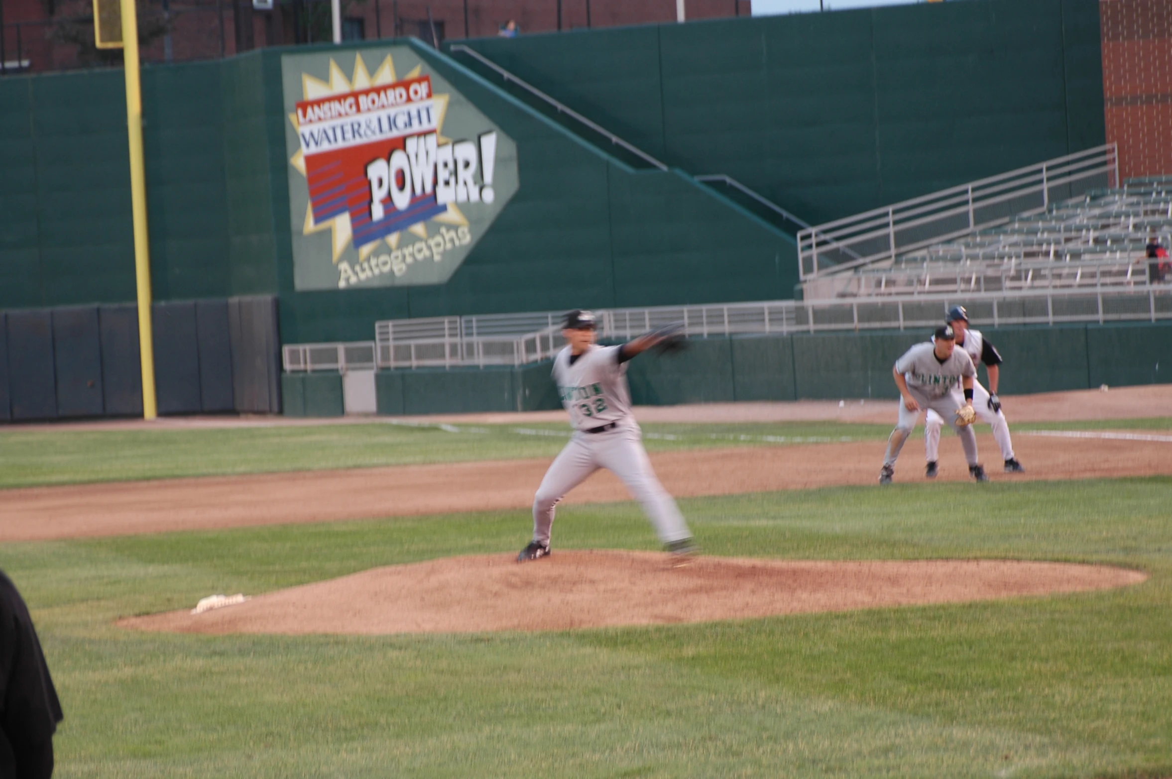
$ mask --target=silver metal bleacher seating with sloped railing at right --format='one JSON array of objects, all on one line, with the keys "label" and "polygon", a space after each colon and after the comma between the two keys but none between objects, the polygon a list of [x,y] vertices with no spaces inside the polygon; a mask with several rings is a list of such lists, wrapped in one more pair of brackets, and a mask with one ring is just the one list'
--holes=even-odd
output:
[{"label": "silver metal bleacher seating with sloped railing at right", "polygon": [[[1113,178],[1113,150],[1101,151],[1105,151],[1101,157],[1078,160],[1091,164],[1077,169],[1074,180],[1071,166],[1063,165],[1069,158],[1062,158],[1023,169],[1029,175],[1018,176],[1014,186],[1003,186],[983,201],[977,197],[975,204],[972,194],[968,203],[965,196],[979,192],[982,183],[918,198],[908,201],[912,207],[890,206],[884,212],[888,224],[877,228],[853,227],[866,227],[875,221],[873,218],[849,218],[812,227],[804,237],[804,259],[809,260],[810,250],[820,248],[824,255],[803,266],[805,298],[1134,288],[1158,282],[1163,274],[1152,272],[1145,250],[1151,239],[1164,246],[1172,239],[1172,178],[1129,180],[1113,189],[1088,187],[1076,197],[1052,199],[1056,179],[1063,189],[1083,189],[1098,178]],[[1109,165],[1106,171],[1104,164]],[[1049,183],[1040,183],[1047,172],[1051,173]],[[1026,205],[1030,197],[1038,201],[1008,218],[988,218],[968,228],[961,224],[958,230],[947,224],[952,220],[955,227],[958,218],[963,223],[974,205],[982,209],[994,200]],[[948,210],[920,217],[924,201],[943,201]],[[973,217],[968,216],[967,221],[973,223]],[[907,240],[912,227],[919,233],[915,242]],[[925,239],[933,230],[943,234],[935,241]],[[819,231],[825,234],[813,238]],[[841,248],[834,242],[841,242]],[[845,255],[843,250],[847,248],[856,257]]]}]

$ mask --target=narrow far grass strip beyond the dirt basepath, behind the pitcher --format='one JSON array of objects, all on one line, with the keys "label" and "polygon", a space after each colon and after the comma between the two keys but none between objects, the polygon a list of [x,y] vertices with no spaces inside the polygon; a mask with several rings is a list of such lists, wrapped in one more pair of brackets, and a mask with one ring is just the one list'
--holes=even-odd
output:
[{"label": "narrow far grass strip beyond the dirt basepath, behind the pitcher", "polygon": [[[894,422],[894,421],[893,421]],[[980,426],[979,426],[980,429]],[[987,429],[987,428],[986,428]],[[1172,418],[1014,425],[1028,430],[1170,430]],[[648,451],[881,442],[887,424],[643,425]],[[196,476],[552,458],[565,424],[354,424],[216,430],[27,431],[0,429],[0,488]]]}]

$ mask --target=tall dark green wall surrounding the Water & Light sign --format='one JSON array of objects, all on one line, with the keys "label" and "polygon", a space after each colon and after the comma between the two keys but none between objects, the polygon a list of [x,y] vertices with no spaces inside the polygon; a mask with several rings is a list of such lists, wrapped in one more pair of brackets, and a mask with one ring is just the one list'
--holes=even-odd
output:
[{"label": "tall dark green wall surrounding the Water & Light sign", "polygon": [[[1098,40],[1095,0],[973,0],[472,42],[668,171],[417,41],[145,67],[154,293],[275,295],[284,342],[364,340],[380,319],[790,298],[792,239],[693,176],[818,220],[1099,144]],[[282,57],[391,45],[516,143],[518,189],[443,283],[299,289]],[[121,73],[9,76],[0,105],[0,310],[132,301]]]}]

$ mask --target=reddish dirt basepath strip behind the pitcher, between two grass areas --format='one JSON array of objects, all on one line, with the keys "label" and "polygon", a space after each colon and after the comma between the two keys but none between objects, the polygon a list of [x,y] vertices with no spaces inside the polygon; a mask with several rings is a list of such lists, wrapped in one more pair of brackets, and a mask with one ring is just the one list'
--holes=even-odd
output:
[{"label": "reddish dirt basepath strip behind the pitcher, between two grass areas", "polygon": [[[1149,437],[1154,440],[1018,435],[1014,443],[1024,474],[1001,473],[990,435],[979,433],[977,442],[993,480],[1172,474],[1172,440],[1165,440],[1172,436]],[[884,446],[875,440],[707,449],[655,453],[652,463],[679,497],[877,485]],[[959,442],[947,436],[940,449],[938,481],[966,480]],[[547,459],[524,459],[5,490],[0,542],[485,510],[516,510],[525,522],[547,466]],[[905,446],[895,480],[924,480],[921,440]],[[619,480],[602,471],[567,503],[628,499]]]}]

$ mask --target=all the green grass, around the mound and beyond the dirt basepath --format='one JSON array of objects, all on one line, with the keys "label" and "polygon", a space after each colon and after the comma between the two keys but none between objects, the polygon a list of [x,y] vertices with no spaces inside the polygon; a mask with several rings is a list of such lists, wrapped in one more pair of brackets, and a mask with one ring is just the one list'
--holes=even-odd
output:
[{"label": "all the green grass, around the mound and beyond the dirt basepath", "polygon": [[[648,445],[840,429],[649,425],[679,438]],[[0,472],[8,485],[155,478],[546,456],[563,440],[383,425],[223,432],[6,432]],[[253,445],[261,453],[239,451]],[[267,467],[250,467],[265,456]],[[11,474],[15,463],[27,470]],[[511,552],[527,539],[524,511],[6,544],[0,567],[33,609],[66,710],[60,777],[1163,778],[1170,499],[1160,477],[683,500],[709,554],[1071,560],[1151,578],[1095,594],[657,628],[307,638],[111,626],[213,592]],[[560,548],[656,546],[626,503],[565,507],[556,535]]]}]

